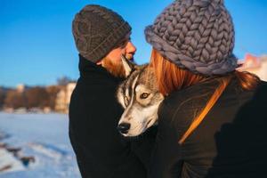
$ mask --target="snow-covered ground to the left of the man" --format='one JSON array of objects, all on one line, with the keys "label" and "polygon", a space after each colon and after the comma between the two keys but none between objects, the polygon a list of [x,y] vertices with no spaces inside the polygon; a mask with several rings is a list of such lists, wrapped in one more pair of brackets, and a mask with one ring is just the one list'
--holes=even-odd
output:
[{"label": "snow-covered ground to the left of the man", "polygon": [[0,112],[0,143],[6,144],[9,148],[20,148],[19,158],[35,159],[25,166],[13,156],[14,154],[4,150],[3,146],[2,149],[0,147],[0,166],[15,161],[13,169],[0,171],[0,177],[80,178],[69,142],[68,125],[68,116],[62,114]]}]

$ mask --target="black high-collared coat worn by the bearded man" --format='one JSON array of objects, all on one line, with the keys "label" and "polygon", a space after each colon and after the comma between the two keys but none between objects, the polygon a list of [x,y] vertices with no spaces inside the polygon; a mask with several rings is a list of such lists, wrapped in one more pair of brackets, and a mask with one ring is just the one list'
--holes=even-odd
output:
[{"label": "black high-collared coat worn by the bearded man", "polygon": [[79,70],[69,106],[69,138],[82,176],[146,177],[156,131],[127,141],[117,132],[123,109],[115,93],[121,79],[82,56]]}]

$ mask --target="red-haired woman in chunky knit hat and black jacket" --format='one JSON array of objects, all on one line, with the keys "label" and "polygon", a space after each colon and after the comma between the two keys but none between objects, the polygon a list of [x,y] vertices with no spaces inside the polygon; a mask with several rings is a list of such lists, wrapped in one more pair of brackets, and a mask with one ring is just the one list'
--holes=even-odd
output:
[{"label": "red-haired woman in chunky knit hat and black jacket", "polygon": [[166,96],[149,177],[266,177],[267,85],[236,70],[223,1],[175,1],[145,35]]}]

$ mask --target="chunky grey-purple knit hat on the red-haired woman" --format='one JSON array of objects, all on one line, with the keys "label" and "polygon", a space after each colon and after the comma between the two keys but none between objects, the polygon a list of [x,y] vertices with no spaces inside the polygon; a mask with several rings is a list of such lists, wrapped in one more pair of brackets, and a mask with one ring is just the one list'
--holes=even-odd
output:
[{"label": "chunky grey-purple knit hat on the red-haired woman", "polygon": [[145,36],[182,69],[213,76],[237,68],[233,23],[223,0],[177,0],[145,29]]}]

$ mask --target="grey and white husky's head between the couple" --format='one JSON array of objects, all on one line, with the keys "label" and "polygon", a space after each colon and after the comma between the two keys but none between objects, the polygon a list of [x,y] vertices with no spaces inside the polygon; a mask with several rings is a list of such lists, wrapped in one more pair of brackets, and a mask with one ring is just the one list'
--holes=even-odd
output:
[{"label": "grey and white husky's head between the couple", "polygon": [[124,136],[137,136],[158,121],[158,106],[164,97],[158,91],[154,70],[122,57],[126,79],[118,86],[117,100],[125,109],[117,125]]}]

